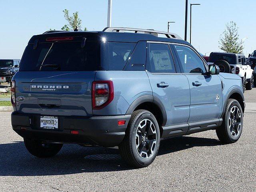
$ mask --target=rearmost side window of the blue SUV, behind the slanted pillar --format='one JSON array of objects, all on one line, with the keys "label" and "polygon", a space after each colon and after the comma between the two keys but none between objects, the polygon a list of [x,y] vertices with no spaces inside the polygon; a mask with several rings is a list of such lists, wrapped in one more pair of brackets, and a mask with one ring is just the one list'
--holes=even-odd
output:
[{"label": "rearmost side window of the blue SUV, behind the slanted pillar", "polygon": [[109,70],[123,70],[136,43],[108,42]]}]

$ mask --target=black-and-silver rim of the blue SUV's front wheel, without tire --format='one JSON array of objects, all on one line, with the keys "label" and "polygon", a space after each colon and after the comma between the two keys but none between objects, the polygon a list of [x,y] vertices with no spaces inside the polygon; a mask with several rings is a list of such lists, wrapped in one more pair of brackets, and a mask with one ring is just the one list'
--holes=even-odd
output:
[{"label": "black-and-silver rim of the blue SUV's front wheel, without tire", "polygon": [[230,134],[236,137],[241,130],[241,112],[237,106],[233,106],[229,112],[228,116],[228,126],[230,130]]}]

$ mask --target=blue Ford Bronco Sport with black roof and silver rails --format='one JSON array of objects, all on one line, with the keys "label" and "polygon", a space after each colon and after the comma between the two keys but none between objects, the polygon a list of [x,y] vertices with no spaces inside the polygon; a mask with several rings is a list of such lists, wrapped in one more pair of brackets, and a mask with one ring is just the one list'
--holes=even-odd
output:
[{"label": "blue Ford Bronco Sport with black roof and silver rails", "polygon": [[223,143],[240,138],[242,81],[219,72],[172,33],[35,35],[12,78],[12,128],[37,157],[56,155],[64,143],[118,146],[128,164],[146,167],[161,139],[206,130]]}]

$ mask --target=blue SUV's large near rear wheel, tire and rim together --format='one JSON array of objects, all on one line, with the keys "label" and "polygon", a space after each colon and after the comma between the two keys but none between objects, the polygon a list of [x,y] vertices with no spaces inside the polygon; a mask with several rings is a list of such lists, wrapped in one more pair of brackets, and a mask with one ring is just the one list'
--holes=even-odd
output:
[{"label": "blue SUV's large near rear wheel, tire and rim together", "polygon": [[122,159],[135,168],[149,166],[158,154],[159,145],[160,130],[155,116],[147,110],[133,112],[124,140],[118,146]]}]

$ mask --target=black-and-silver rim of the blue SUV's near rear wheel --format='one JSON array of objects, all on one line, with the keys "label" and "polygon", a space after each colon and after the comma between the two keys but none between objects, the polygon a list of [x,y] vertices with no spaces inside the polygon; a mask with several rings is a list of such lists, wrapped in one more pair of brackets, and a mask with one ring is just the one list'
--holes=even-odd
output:
[{"label": "black-and-silver rim of the blue SUV's near rear wheel", "polygon": [[156,128],[149,119],[144,119],[138,124],[135,135],[135,146],[141,158],[147,159],[154,154],[156,149]]}]

